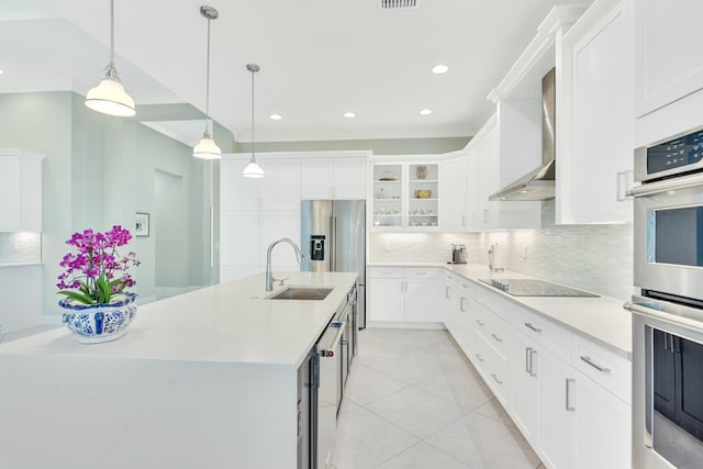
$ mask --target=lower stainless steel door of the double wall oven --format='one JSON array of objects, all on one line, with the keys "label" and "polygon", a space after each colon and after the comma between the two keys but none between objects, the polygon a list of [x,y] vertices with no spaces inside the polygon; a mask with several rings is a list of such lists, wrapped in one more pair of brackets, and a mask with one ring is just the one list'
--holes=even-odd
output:
[{"label": "lower stainless steel door of the double wall oven", "polygon": [[633,467],[701,468],[703,311],[634,300]]}]

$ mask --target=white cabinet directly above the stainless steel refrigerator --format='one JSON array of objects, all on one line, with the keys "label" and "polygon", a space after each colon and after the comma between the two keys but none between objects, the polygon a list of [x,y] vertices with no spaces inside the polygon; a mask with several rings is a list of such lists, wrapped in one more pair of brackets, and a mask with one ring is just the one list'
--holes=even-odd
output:
[{"label": "white cabinet directly above the stainless steel refrigerator", "polygon": [[366,199],[366,156],[301,158],[302,199]]}]

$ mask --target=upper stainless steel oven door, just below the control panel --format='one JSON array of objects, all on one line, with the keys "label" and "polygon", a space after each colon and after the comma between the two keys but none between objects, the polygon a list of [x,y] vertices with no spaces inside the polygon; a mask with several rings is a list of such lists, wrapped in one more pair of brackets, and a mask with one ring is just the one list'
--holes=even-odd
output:
[{"label": "upper stainless steel oven door, just below the control panel", "polygon": [[651,182],[635,196],[635,286],[703,300],[703,174]]}]

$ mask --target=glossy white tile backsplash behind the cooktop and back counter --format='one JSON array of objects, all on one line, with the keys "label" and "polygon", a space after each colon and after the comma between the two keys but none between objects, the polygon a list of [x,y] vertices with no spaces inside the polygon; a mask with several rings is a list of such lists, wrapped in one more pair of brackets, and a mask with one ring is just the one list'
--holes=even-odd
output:
[{"label": "glossy white tile backsplash behind the cooktop and back counter", "polygon": [[371,263],[444,263],[451,244],[465,244],[469,263],[499,267],[628,300],[633,292],[633,225],[556,225],[482,233],[370,233]]}]

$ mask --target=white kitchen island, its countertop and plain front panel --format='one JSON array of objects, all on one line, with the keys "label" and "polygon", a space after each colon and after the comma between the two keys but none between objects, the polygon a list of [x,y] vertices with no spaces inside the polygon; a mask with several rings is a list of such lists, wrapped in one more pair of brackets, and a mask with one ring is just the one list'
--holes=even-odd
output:
[{"label": "white kitchen island, its countertop and plain front panel", "polygon": [[357,275],[289,276],[334,290],[270,300],[259,275],[140,306],[114,342],[0,345],[0,467],[295,468],[298,367]]}]

